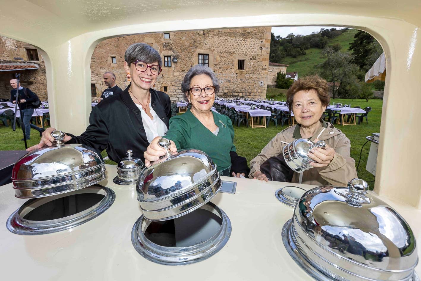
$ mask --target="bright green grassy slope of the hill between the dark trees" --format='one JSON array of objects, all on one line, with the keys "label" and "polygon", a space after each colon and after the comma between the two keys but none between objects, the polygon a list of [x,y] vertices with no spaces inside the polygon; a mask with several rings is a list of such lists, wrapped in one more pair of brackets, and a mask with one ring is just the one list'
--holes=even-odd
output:
[{"label": "bright green grassy slope of the hill between the dark trees", "polygon": [[[333,45],[335,43],[340,43],[342,46],[341,51],[346,52],[349,48],[349,43],[354,41],[354,35],[357,33],[357,29],[349,29],[335,37],[333,39],[329,39],[329,45]],[[320,54],[322,53],[322,49],[319,48],[310,48],[306,50],[306,54],[302,56],[297,56],[296,58],[287,56],[282,60],[283,64],[288,64],[287,72],[298,72],[298,77],[304,75],[311,75],[317,73],[317,65],[322,63],[323,60],[320,59]]]}]

